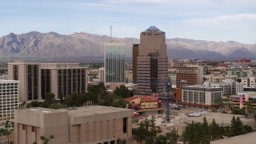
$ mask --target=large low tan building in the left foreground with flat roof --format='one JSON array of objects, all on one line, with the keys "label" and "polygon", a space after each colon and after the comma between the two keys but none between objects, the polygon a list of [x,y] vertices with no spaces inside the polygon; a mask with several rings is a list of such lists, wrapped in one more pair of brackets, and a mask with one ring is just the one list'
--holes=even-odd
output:
[{"label": "large low tan building in the left foreground with flat roof", "polygon": [[42,135],[53,135],[53,144],[115,144],[120,140],[130,143],[132,115],[132,110],[107,106],[15,110],[15,143],[40,143]]}]

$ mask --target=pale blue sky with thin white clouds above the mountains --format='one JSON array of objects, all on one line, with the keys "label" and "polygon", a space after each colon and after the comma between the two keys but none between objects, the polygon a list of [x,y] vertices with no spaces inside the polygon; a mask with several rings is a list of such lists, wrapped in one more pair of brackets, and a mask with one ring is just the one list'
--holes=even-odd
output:
[{"label": "pale blue sky with thin white clouds above the mountains", "polygon": [[0,37],[30,31],[139,38],[149,26],[166,38],[256,44],[255,0],[0,0]]}]

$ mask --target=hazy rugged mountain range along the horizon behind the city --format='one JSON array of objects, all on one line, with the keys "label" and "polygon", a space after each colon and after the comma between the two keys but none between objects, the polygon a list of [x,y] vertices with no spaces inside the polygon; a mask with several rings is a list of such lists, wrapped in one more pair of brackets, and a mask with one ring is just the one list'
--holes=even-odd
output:
[{"label": "hazy rugged mountain range along the horizon behind the city", "polygon": [[[0,38],[0,58],[2,59],[96,59],[103,60],[103,44],[110,42],[106,35],[85,32],[69,35],[39,33],[10,33]],[[126,57],[132,57],[132,46],[138,38],[113,38],[115,42],[126,43]],[[169,58],[198,58],[209,60],[255,58],[256,44],[239,42],[213,42],[186,38],[166,38]],[[93,60],[94,61],[94,60]]]}]

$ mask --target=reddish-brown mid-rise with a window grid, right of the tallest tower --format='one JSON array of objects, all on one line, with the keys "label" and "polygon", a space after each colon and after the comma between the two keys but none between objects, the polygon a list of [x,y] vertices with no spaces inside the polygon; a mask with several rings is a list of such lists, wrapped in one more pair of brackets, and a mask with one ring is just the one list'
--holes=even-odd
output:
[{"label": "reddish-brown mid-rise with a window grid, right of the tallest tower", "polygon": [[176,68],[176,86],[194,86],[202,85],[202,66],[177,67]]}]

